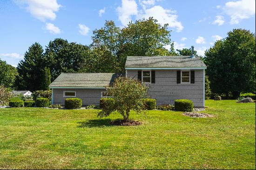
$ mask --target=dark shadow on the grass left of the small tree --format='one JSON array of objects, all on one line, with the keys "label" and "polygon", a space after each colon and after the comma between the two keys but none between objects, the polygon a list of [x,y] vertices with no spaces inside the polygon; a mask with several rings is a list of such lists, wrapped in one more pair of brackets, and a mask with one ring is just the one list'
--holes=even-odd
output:
[{"label": "dark shadow on the grass left of the small tree", "polygon": [[110,118],[105,118],[105,119],[91,119],[83,122],[78,122],[77,127],[105,127],[105,126],[113,126],[110,124],[111,119]]}]

